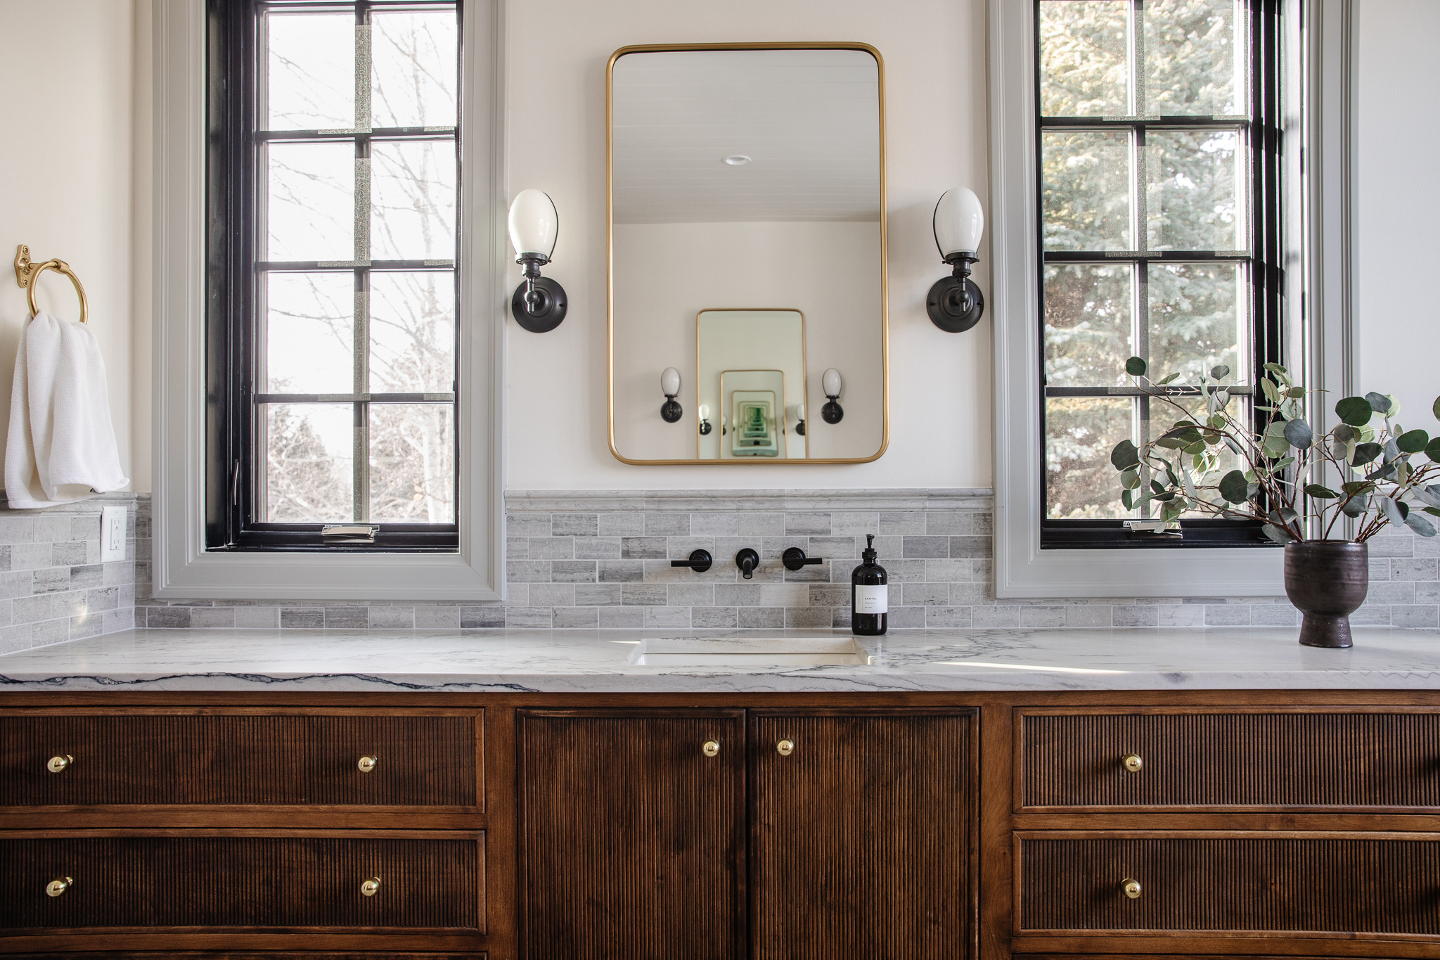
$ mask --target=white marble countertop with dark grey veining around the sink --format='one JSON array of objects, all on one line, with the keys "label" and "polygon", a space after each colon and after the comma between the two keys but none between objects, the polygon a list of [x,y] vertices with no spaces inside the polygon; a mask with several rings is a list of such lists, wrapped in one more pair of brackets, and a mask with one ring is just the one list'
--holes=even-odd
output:
[{"label": "white marble countertop with dark grey veining around the sink", "polygon": [[[1440,630],[1295,628],[897,630],[868,666],[636,666],[667,630],[127,630],[0,656],[3,691],[809,692],[1440,689]],[[840,630],[696,630],[840,638]]]}]

